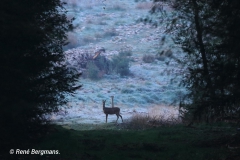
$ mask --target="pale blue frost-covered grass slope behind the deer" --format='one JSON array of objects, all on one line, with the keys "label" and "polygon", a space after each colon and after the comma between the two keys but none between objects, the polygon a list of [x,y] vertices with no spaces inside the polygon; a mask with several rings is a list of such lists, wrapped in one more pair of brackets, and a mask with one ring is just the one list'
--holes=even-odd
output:
[{"label": "pale blue frost-covered grass slope behind the deer", "polygon": [[[179,54],[180,50],[173,44],[171,37],[163,33],[161,27],[154,28],[136,22],[148,13],[143,3],[135,3],[134,0],[104,1],[104,4],[100,1],[69,2],[80,6],[79,9],[74,9],[70,4],[67,6],[69,16],[76,18],[76,29],[74,34],[70,34],[76,48],[68,50],[68,56],[72,56],[68,57],[69,64],[77,66],[73,57],[78,57],[83,49],[94,54],[97,48],[104,47],[106,52],[101,55],[108,59],[122,51],[131,51],[131,54],[128,55],[128,76],[105,74],[99,81],[81,77],[79,83],[83,84],[83,87],[74,96],[67,95],[70,102],[63,106],[67,108],[68,117],[79,117],[80,111],[100,112],[103,99],[107,100],[107,106],[111,106],[110,96],[115,97],[114,103],[122,109],[123,116],[134,108],[139,111],[148,110],[154,105],[177,108],[185,89],[179,87],[181,66],[172,57],[181,58],[182,54]],[[146,4],[149,7],[150,3]],[[91,7],[87,7],[89,5]],[[169,50],[171,56],[164,55],[162,60],[156,58],[160,52],[168,53]],[[143,57],[146,55],[155,59],[151,60],[151,63],[145,63]],[[102,115],[102,112],[99,114]],[[93,115],[81,116],[90,118]]]}]

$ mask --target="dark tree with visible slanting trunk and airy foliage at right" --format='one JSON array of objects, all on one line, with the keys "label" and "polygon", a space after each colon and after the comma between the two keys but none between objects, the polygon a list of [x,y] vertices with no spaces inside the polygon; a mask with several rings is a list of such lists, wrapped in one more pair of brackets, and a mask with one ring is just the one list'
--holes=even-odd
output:
[{"label": "dark tree with visible slanting trunk and airy foliage at right", "polygon": [[[171,18],[163,12],[163,2],[173,8]],[[157,16],[151,22],[167,20],[166,32],[186,53],[181,60],[187,68],[185,116],[206,121],[236,113],[240,117],[239,10],[236,0],[155,1],[151,13]]]}]

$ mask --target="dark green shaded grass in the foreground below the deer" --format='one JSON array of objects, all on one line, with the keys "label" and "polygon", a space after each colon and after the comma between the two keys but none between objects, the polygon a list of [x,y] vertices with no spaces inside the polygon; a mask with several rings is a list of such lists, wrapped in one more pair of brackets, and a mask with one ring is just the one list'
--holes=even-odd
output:
[{"label": "dark green shaded grass in the foreground below the deer", "polygon": [[112,123],[102,124],[95,130],[80,131],[54,126],[51,133],[32,148],[58,150],[60,154],[24,157],[58,160],[227,160],[227,157],[239,153],[239,149],[237,152],[227,147],[234,134],[236,128],[225,125],[195,128],[174,125],[129,130]]}]

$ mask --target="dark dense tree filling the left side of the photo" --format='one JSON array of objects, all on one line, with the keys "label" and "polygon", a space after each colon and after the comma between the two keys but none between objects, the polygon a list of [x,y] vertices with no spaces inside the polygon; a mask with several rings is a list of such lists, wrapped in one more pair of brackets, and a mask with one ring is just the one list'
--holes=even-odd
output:
[{"label": "dark dense tree filling the left side of the photo", "polygon": [[14,148],[44,132],[46,114],[67,102],[79,74],[63,63],[73,28],[64,3],[3,0],[0,14],[0,141]]}]

